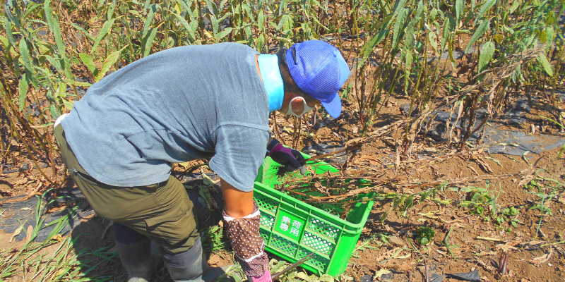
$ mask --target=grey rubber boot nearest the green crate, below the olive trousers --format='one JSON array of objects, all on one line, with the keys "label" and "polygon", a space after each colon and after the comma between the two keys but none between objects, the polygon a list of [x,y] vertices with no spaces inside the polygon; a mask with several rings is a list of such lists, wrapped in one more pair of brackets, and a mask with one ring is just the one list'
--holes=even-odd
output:
[{"label": "grey rubber boot nearest the green crate, below the olive trousers", "polygon": [[[171,255],[162,251],[162,255],[167,270],[175,282],[214,282],[225,276],[225,271],[232,266],[208,266],[200,238],[196,239],[194,246],[186,252]],[[222,281],[230,281],[230,278],[226,277]]]}]

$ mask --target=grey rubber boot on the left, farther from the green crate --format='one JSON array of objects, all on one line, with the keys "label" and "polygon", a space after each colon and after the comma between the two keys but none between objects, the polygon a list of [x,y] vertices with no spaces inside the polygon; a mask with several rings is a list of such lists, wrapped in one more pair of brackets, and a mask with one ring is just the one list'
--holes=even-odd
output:
[{"label": "grey rubber boot on the left, farther from the green crate", "polygon": [[145,238],[132,244],[116,241],[121,264],[128,272],[128,282],[148,282],[155,271],[155,256],[151,255],[151,240]]}]

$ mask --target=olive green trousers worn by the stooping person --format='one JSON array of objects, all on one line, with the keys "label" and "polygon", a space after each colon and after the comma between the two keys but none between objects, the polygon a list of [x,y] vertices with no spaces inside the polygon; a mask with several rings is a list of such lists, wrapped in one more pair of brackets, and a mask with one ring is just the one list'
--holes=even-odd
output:
[{"label": "olive green trousers worn by the stooping person", "polygon": [[55,137],[69,174],[97,215],[147,236],[170,254],[194,245],[198,231],[193,204],[177,178],[137,187],[100,183],[78,164],[62,125],[55,128]]}]

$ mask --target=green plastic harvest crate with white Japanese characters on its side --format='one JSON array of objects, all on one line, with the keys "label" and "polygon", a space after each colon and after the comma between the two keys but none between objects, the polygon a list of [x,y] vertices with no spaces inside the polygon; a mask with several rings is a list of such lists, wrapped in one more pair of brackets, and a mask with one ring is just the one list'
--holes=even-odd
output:
[{"label": "green plastic harvest crate with white Japanese characters on its side", "polygon": [[[347,220],[340,219],[273,189],[280,184],[278,166],[266,158],[255,182],[254,197],[261,212],[260,232],[265,249],[288,262],[316,252],[302,268],[317,275],[343,274],[374,202],[357,203],[347,214]],[[338,171],[323,162],[310,167],[316,174]]]}]

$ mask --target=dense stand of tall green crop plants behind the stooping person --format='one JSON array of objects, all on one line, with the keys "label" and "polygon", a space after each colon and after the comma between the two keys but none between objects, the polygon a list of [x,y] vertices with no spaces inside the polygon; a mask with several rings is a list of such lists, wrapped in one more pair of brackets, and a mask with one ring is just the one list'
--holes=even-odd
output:
[{"label": "dense stand of tall green crop plants behind the stooping person", "polygon": [[[562,124],[554,90],[563,75],[564,4],[557,0],[58,3],[7,0],[0,13],[0,114],[9,128],[1,133],[3,161],[25,152],[52,175],[57,148],[49,125],[90,84],[156,51],[190,44],[239,42],[268,53],[323,39],[347,49],[362,135],[391,95],[410,97],[408,115],[415,116],[397,141],[398,154],[408,157],[438,99],[463,128],[453,134],[454,125],[447,125],[447,137],[460,149],[511,95],[531,95],[536,87],[547,88],[543,99]],[[446,91],[454,77],[465,79]],[[477,124],[480,108],[488,114]],[[293,145],[300,146],[302,136],[296,134]]]}]

